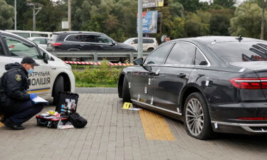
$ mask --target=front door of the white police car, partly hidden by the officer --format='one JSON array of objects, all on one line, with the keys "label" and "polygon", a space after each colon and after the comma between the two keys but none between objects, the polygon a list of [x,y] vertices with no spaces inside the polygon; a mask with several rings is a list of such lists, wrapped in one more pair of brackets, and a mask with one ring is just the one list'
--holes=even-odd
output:
[{"label": "front door of the white police car, partly hidden by the officer", "polygon": [[21,63],[22,58],[28,56],[39,64],[34,68],[34,72],[28,75],[31,80],[28,92],[35,92],[42,97],[46,97],[52,90],[51,76],[53,74],[51,65],[43,61],[43,55],[41,55],[39,48],[15,36],[3,34],[3,38],[6,45],[9,46],[9,54],[13,63]]}]

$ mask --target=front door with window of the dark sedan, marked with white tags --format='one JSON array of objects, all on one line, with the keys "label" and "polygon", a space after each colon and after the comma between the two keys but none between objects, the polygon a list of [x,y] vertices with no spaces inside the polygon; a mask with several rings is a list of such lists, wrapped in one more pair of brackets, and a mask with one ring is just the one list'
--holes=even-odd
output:
[{"label": "front door with window of the dark sedan, marked with white tags", "polygon": [[153,105],[153,78],[157,76],[157,68],[164,63],[172,43],[164,44],[152,52],[142,66],[135,67],[132,72],[132,97],[137,102]]}]

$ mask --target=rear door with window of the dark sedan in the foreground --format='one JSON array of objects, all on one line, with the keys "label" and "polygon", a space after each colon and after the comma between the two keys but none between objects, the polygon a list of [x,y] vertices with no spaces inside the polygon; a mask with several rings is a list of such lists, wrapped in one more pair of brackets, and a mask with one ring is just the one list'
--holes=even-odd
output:
[{"label": "rear door with window of the dark sedan in the foreground", "polygon": [[195,52],[196,47],[191,43],[174,44],[164,65],[158,68],[159,75],[154,78],[155,106],[182,113],[179,110],[179,97],[194,69]]}]

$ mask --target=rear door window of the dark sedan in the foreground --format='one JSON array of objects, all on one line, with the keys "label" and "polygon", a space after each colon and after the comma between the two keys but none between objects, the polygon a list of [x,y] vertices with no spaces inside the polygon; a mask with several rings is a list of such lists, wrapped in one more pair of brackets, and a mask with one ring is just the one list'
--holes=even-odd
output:
[{"label": "rear door window of the dark sedan in the foreground", "polygon": [[196,47],[190,43],[176,43],[166,60],[166,64],[194,65]]}]

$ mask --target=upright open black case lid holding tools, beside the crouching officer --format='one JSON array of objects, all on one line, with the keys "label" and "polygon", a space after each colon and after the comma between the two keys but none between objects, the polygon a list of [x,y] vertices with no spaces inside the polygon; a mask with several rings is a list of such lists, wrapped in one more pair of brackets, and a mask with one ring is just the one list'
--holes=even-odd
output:
[{"label": "upright open black case lid holding tools, beside the crouching officer", "polygon": [[71,114],[77,110],[79,95],[72,92],[59,92],[56,112],[60,114]]}]

